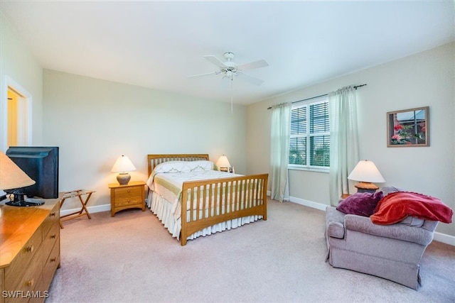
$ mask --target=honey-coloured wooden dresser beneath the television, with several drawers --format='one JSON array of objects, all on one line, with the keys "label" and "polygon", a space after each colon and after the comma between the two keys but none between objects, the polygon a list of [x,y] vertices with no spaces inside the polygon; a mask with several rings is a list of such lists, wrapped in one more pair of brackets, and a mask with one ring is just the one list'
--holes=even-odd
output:
[{"label": "honey-coloured wooden dresser beneath the television, with several drawers", "polygon": [[0,205],[0,303],[43,302],[60,267],[58,199]]}]

